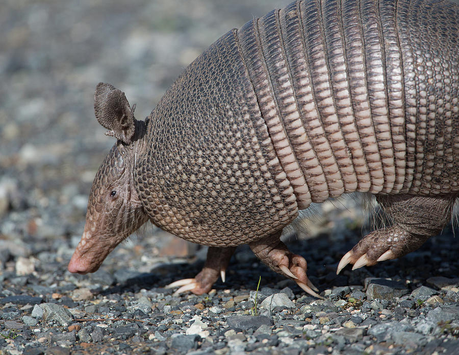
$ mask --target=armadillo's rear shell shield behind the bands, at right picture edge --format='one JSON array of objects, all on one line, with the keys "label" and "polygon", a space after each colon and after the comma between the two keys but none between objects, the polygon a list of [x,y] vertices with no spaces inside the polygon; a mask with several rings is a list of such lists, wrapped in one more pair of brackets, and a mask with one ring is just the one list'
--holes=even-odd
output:
[{"label": "armadillo's rear shell shield behind the bands, at right picture edge", "polygon": [[457,192],[459,10],[446,1],[399,3],[409,167],[404,188],[422,195]]}]

